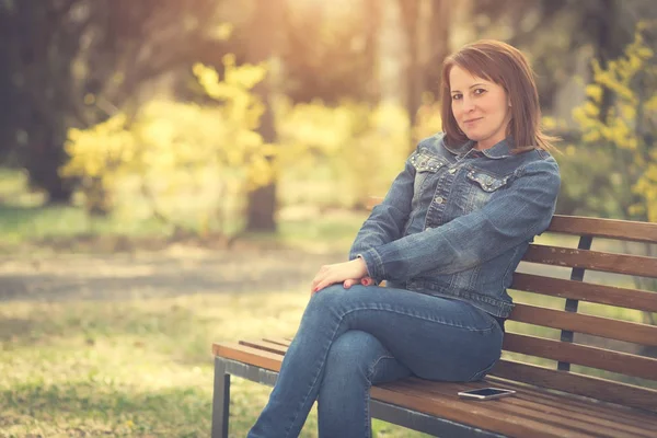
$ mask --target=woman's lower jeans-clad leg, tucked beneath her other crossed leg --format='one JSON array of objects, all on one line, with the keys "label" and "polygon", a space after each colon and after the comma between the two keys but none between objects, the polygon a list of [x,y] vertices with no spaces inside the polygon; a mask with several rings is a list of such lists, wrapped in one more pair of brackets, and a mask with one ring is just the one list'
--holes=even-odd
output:
[{"label": "woman's lower jeans-clad leg, tucked beneath her other crossed leg", "polygon": [[369,333],[350,330],[328,350],[318,397],[320,438],[371,436],[369,390],[372,383],[411,376],[411,370]]}]

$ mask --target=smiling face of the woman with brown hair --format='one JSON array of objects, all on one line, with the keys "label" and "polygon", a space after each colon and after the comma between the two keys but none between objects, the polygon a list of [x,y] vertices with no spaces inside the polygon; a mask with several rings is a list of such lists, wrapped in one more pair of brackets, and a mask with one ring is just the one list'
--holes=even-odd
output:
[{"label": "smiling face of the woman with brown hair", "polygon": [[452,114],[477,149],[488,149],[506,138],[511,119],[507,92],[498,84],[472,76],[459,66],[449,72]]}]

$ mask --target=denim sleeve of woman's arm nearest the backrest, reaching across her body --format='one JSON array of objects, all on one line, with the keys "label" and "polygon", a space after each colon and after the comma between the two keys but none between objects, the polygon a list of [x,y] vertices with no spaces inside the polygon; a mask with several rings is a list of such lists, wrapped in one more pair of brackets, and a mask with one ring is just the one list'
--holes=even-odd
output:
[{"label": "denim sleeve of woman's arm nearest the backrest, reaching across her body", "polygon": [[470,269],[543,232],[552,220],[560,185],[554,159],[530,163],[509,188],[494,194],[480,210],[360,255],[377,283]]}]

